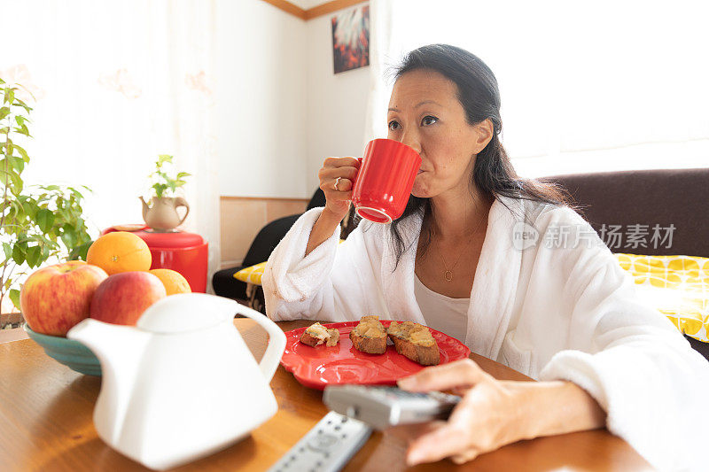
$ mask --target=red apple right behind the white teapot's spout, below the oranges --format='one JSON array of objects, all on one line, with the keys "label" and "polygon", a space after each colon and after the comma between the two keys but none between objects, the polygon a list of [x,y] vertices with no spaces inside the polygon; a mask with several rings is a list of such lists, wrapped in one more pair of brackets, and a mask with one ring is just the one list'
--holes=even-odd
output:
[{"label": "red apple right behind the white teapot's spout, below the oranges", "polygon": [[160,298],[168,296],[165,286],[147,272],[109,275],[91,300],[91,318],[113,324],[135,325],[140,315]]}]

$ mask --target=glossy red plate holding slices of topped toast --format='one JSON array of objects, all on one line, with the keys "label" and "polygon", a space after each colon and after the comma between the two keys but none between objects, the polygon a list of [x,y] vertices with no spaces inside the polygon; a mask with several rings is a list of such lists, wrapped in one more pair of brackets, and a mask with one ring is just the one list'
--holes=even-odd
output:
[{"label": "glossy red plate holding slices of topped toast", "polygon": [[[381,322],[387,328],[392,321]],[[311,347],[300,343],[300,335],[307,327],[287,331],[281,364],[285,370],[295,375],[298,382],[317,390],[323,390],[325,385],[341,383],[393,385],[397,379],[415,374],[424,368],[397,353],[393,344],[386,346],[384,354],[357,351],[349,339],[349,332],[357,324],[359,321],[323,324],[326,328],[339,330],[339,344],[331,347],[324,344]],[[471,350],[455,337],[449,337],[435,329],[430,330],[433,339],[438,343],[441,364],[465,359],[470,355]]]}]

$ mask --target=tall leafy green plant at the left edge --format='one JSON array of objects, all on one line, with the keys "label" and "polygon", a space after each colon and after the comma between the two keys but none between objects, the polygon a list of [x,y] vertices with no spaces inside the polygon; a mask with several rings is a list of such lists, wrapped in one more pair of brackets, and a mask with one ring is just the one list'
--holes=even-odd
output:
[{"label": "tall leafy green plant at the left edge", "polygon": [[[5,308],[12,307],[8,298],[19,307],[20,284],[30,269],[48,259],[86,259],[91,244],[79,190],[26,186],[22,180],[30,159],[19,142],[32,137],[27,128],[32,108],[15,97],[17,90],[0,79],[0,306]],[[20,321],[18,313],[0,313],[0,329]]]}]

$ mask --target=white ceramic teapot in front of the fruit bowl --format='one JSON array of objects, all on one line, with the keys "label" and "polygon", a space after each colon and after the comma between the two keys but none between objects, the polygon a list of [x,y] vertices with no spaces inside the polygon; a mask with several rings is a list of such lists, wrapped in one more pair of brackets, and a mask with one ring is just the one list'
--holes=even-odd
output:
[{"label": "white ceramic teapot in front of the fruit bowl", "polygon": [[[234,327],[235,313],[268,331],[261,364]],[[66,336],[101,362],[98,436],[146,467],[173,468],[214,453],[277,412],[269,382],[284,333],[230,298],[172,295],[145,310],[136,327],[87,319]]]}]

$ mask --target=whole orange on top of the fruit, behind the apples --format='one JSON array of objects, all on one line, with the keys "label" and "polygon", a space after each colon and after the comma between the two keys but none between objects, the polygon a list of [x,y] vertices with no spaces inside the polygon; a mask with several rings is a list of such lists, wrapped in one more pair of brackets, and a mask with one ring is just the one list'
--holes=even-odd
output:
[{"label": "whole orange on top of the fruit, behind the apples", "polygon": [[86,255],[86,262],[101,267],[106,274],[147,271],[152,264],[148,244],[127,231],[115,231],[99,237]]}]

